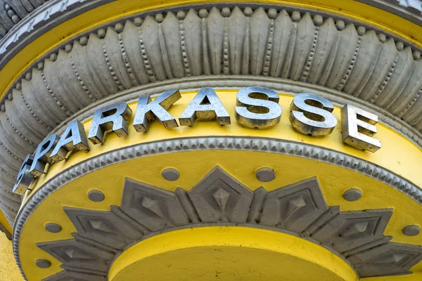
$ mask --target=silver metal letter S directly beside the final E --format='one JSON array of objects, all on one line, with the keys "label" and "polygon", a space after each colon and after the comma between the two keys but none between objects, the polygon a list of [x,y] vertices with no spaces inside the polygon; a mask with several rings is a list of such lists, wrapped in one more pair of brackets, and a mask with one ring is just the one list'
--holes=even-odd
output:
[{"label": "silver metal letter S directly beside the final E", "polygon": [[290,103],[290,123],[305,135],[328,136],[337,125],[333,110],[333,104],[326,98],[300,93]]}]

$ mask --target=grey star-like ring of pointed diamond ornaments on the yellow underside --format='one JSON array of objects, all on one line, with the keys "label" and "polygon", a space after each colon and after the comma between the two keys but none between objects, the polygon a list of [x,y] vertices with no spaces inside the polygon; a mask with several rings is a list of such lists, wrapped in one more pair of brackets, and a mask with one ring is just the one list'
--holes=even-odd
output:
[{"label": "grey star-like ring of pointed diamond ornaments on the yellow underside", "polygon": [[[212,225],[294,233],[333,251],[359,277],[409,274],[422,247],[384,236],[392,209],[340,211],[328,207],[316,177],[267,192],[255,191],[215,166],[193,188],[174,192],[126,178],[120,207],[94,211],[64,207],[72,240],[39,242],[64,270],[44,281],[108,280],[113,260],[135,242],[163,231]],[[277,262],[277,261],[274,261]],[[89,270],[90,274],[84,275]]]}]

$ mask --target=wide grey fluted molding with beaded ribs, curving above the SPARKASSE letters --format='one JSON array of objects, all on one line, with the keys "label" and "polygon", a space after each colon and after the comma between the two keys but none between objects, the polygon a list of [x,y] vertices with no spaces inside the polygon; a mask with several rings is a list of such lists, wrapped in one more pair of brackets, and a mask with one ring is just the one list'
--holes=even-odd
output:
[{"label": "wide grey fluted molding with beaded ribs, curving above the SPARKASSE letters", "polygon": [[40,61],[1,105],[0,208],[14,220],[20,164],[61,122],[116,93],[181,78],[248,75],[319,86],[403,119],[422,145],[420,57],[375,30],[275,8],[182,9],[117,22]]}]

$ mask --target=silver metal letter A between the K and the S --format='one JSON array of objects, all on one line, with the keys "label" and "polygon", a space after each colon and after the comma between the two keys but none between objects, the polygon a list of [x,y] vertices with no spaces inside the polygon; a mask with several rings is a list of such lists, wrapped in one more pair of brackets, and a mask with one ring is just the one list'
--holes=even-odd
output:
[{"label": "silver metal letter A between the K and the S", "polygon": [[220,125],[230,124],[230,115],[218,98],[217,93],[211,88],[200,89],[195,98],[179,117],[181,126],[192,126],[196,119],[212,120],[217,117]]}]

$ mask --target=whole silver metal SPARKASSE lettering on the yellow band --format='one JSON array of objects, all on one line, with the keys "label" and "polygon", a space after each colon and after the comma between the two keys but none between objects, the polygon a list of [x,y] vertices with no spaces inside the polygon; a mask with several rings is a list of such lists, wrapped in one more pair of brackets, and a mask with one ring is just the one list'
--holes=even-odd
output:
[{"label": "whole silver metal SPARKASSE lettering on the yellow band", "polygon": [[[133,126],[137,132],[146,133],[148,126],[157,119],[165,128],[179,126],[176,119],[167,111],[181,93],[166,91],[151,100],[149,95],[140,96],[136,107]],[[281,105],[279,94],[264,87],[246,87],[238,91],[236,96],[236,120],[247,128],[267,129],[279,124]],[[325,98],[311,93],[300,93],[290,104],[290,123],[293,129],[309,136],[326,136],[333,132],[337,119],[333,115],[334,106]],[[117,136],[126,136],[132,110],[124,102],[102,107],[94,112],[88,138],[94,143],[103,143],[106,131],[112,130]],[[206,87],[193,97],[191,103],[179,116],[181,126],[193,126],[196,119],[217,119],[220,125],[230,124],[230,115],[217,96],[217,93]],[[345,105],[341,110],[343,126],[343,142],[355,148],[376,152],[381,148],[381,141],[372,138],[376,133],[378,117],[352,105]],[[13,187],[13,192],[25,194],[34,178],[46,173],[46,164],[67,159],[73,150],[89,150],[84,126],[77,120],[68,124],[60,136],[51,134],[42,141],[34,156],[25,158]]]}]

